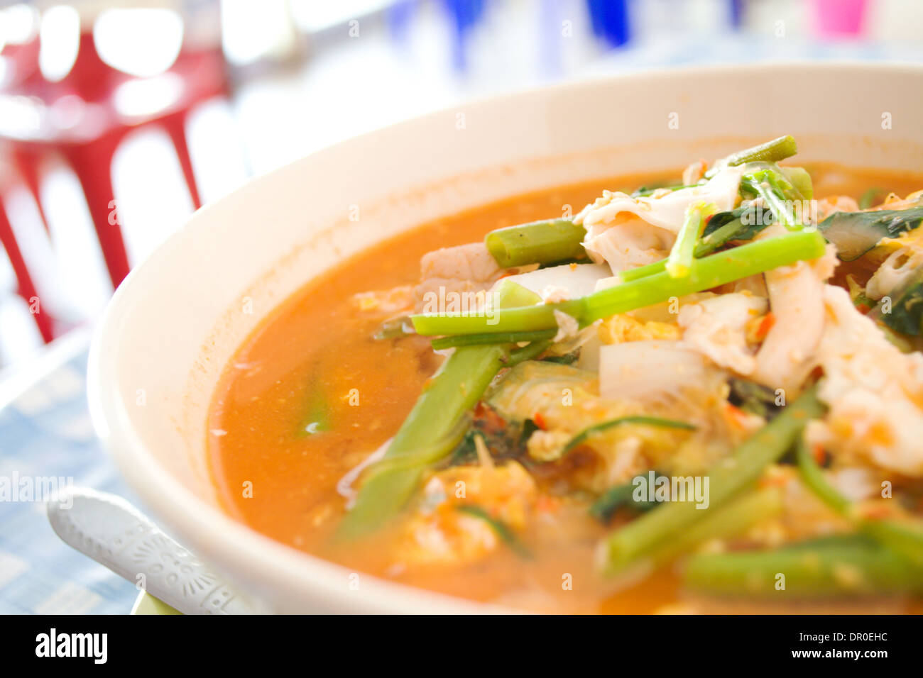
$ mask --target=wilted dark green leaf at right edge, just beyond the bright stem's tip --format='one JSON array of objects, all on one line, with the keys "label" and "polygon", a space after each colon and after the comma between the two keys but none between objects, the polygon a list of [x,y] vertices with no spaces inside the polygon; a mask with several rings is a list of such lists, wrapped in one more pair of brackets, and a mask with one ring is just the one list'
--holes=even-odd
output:
[{"label": "wilted dark green leaf at right edge, just beyond the bright stem's tip", "polygon": [[836,256],[855,261],[874,249],[882,238],[912,231],[923,220],[923,207],[880,209],[873,212],[833,212],[818,224],[823,236],[836,245]]}]

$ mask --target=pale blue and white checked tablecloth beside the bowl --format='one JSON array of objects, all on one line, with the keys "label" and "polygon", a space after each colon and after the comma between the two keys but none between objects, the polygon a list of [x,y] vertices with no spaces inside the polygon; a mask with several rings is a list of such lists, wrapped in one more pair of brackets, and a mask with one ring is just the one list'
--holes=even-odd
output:
[{"label": "pale blue and white checked tablecloth beside the bowl", "polygon": [[[63,478],[134,501],[90,424],[85,336],[62,348],[63,362],[0,410],[0,478]],[[0,613],[131,609],[132,583],[58,540],[42,501],[11,498],[0,501]]]}]

